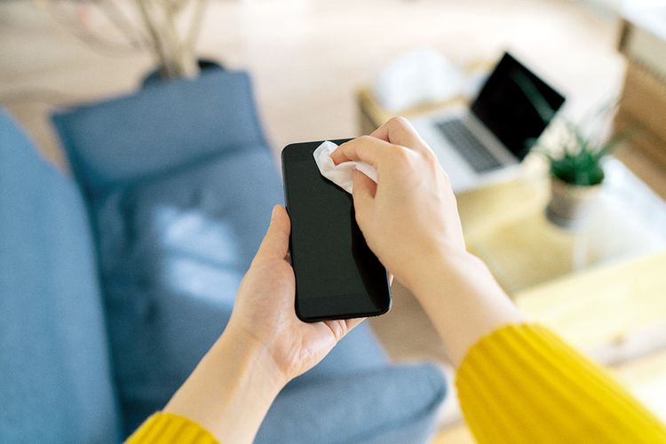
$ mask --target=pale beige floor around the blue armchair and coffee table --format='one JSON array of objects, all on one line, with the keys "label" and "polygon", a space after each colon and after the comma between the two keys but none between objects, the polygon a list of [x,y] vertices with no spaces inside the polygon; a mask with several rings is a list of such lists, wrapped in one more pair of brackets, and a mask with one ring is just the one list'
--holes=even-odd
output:
[{"label": "pale beige floor around the blue armchair and coffee table", "polygon": [[[153,60],[83,43],[64,12],[58,2],[0,3],[0,103],[44,155],[67,168],[48,113],[134,91]],[[94,11],[84,12],[100,35],[113,37]],[[619,90],[623,62],[614,51],[616,34],[611,15],[571,0],[218,0],[203,21],[198,52],[250,71],[277,154],[294,141],[358,134],[355,89],[391,59],[422,47],[462,66],[510,49],[566,93],[568,115],[585,115]],[[436,342],[420,340],[432,337],[432,328],[401,291],[391,317],[374,324],[379,336],[398,360],[443,361]],[[413,326],[414,334],[406,340],[392,322]],[[444,420],[455,422],[455,406],[448,409]],[[471,437],[460,426],[436,438],[465,441]]]}]

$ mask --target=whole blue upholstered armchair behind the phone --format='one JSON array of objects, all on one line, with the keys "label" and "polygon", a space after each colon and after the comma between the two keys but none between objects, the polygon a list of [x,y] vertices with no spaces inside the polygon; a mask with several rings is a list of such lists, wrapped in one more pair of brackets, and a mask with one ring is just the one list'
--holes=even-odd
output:
[{"label": "whole blue upholstered armchair behind the phone", "polygon": [[[0,441],[114,442],[225,328],[281,181],[241,72],[53,122],[78,187],[0,115],[0,354],[16,357]],[[444,395],[438,369],[388,363],[361,325],[281,392],[257,442],[423,442]]]}]

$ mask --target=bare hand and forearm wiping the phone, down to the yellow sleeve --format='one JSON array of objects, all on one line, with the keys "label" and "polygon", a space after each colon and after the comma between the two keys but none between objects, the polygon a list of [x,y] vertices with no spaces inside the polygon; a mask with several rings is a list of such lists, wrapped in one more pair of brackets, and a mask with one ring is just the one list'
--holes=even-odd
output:
[{"label": "bare hand and forearm wiping the phone, down to the yellow sleeve", "polygon": [[467,252],[448,176],[407,120],[394,118],[331,157],[377,170],[377,184],[354,174],[356,221],[377,258],[423,305],[455,365],[483,335],[524,320],[488,267]]}]

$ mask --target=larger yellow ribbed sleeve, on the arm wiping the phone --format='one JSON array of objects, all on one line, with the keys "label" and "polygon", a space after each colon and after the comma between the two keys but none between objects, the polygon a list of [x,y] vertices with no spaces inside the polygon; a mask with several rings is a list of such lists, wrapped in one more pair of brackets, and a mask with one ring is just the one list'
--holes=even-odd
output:
[{"label": "larger yellow ribbed sleeve, on the arm wiping the phone", "polygon": [[666,442],[666,427],[604,369],[537,325],[481,338],[456,378],[480,443]]}]

